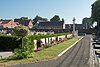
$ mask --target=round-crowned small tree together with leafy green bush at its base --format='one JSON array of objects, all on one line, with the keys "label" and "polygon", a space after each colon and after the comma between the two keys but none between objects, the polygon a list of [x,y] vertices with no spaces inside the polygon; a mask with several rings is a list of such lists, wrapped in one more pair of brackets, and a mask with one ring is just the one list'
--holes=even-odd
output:
[{"label": "round-crowned small tree together with leafy green bush at its base", "polygon": [[20,48],[14,49],[15,59],[32,57],[33,45],[31,44],[30,39],[27,37],[28,32],[29,29],[22,25],[17,26],[14,30],[15,35],[21,38],[22,41],[22,43],[20,44]]}]

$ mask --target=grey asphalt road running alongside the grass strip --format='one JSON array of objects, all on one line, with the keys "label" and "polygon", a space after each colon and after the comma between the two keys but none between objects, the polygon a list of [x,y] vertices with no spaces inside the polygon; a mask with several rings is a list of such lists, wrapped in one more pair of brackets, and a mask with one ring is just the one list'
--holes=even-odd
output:
[{"label": "grey asphalt road running alongside the grass strip", "polygon": [[49,61],[15,65],[12,67],[90,67],[90,37],[85,36],[64,55]]}]

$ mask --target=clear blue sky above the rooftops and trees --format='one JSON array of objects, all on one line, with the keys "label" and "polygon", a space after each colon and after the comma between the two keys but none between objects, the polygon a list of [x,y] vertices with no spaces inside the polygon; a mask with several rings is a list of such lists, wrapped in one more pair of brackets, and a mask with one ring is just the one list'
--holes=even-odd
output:
[{"label": "clear blue sky above the rooftops and trees", "polygon": [[91,16],[91,4],[95,0],[0,0],[0,19],[20,17],[35,18],[36,15],[52,18],[59,15],[66,23],[82,23],[84,17]]}]

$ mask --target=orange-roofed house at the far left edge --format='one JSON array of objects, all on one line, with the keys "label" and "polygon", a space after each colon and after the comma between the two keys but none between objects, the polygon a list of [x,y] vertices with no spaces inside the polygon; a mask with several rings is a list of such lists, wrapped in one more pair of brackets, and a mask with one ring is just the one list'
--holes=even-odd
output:
[{"label": "orange-roofed house at the far left edge", "polygon": [[13,20],[0,20],[0,28],[14,28],[17,24]]}]

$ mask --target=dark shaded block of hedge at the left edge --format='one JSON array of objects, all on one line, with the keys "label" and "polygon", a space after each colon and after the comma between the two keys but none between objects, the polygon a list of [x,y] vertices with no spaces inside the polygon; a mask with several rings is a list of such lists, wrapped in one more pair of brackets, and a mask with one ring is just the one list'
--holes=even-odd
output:
[{"label": "dark shaded block of hedge at the left edge", "polygon": [[0,50],[14,50],[19,48],[22,43],[21,39],[15,36],[0,35]]}]

